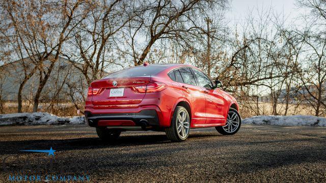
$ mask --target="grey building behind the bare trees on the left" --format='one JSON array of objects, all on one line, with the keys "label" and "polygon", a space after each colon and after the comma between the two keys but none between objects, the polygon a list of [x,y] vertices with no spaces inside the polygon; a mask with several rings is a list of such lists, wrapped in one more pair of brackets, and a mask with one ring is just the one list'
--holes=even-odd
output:
[{"label": "grey building behind the bare trees on the left", "polygon": [[[32,59],[24,58],[25,65],[28,70],[34,68]],[[50,64],[49,60],[45,60],[43,67],[46,69]],[[24,78],[24,70],[21,60],[0,66],[0,92],[2,92],[2,100],[17,101],[18,88]],[[22,99],[31,100],[39,85],[39,73],[35,73],[25,84]],[[51,75],[44,86],[41,95],[41,101],[57,98],[58,100],[70,100],[70,96],[82,97],[86,95],[88,89],[85,76],[76,69],[68,59],[59,57]],[[58,90],[60,92],[58,93]],[[72,93],[72,94],[71,94]]]}]

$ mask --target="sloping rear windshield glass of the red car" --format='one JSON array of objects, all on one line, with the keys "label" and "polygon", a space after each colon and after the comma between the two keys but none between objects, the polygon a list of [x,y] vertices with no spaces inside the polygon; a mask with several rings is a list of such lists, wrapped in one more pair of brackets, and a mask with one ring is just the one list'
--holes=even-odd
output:
[{"label": "sloping rear windshield glass of the red car", "polygon": [[155,75],[155,74],[163,71],[164,69],[165,69],[165,67],[159,67],[159,66],[132,67],[132,68],[128,68],[128,69],[124,69],[121,71],[111,73],[111,74],[105,76],[104,78],[150,76],[150,75]]}]

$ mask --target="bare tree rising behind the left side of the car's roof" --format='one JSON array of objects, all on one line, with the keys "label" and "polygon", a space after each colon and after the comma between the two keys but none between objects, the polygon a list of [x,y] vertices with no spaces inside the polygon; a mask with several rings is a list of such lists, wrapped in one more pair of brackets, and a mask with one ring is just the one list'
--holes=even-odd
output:
[{"label": "bare tree rising behind the left side of the car's roof", "polygon": [[[74,30],[74,37],[64,55],[80,70],[87,83],[101,78],[107,64],[119,64],[114,60],[115,37],[132,18],[126,1],[91,1],[85,18]],[[111,55],[110,55],[111,53]]]}]

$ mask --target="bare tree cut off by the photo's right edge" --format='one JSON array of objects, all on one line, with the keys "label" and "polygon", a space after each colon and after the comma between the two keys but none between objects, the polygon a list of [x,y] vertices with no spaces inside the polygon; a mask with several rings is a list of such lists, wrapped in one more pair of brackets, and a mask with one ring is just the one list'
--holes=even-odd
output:
[{"label": "bare tree cut off by the photo's right edge", "polygon": [[304,17],[306,27],[297,33],[305,43],[305,63],[300,65],[302,95],[319,116],[326,112],[326,2],[322,0],[297,1],[310,10]]}]

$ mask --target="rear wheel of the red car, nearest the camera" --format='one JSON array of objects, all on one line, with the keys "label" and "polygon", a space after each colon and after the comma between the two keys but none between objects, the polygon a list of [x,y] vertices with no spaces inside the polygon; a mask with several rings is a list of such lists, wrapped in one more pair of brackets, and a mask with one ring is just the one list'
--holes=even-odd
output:
[{"label": "rear wheel of the red car, nearest the camera", "polygon": [[190,132],[190,122],[188,111],[177,106],[174,110],[171,125],[165,130],[168,139],[172,142],[181,142],[188,138]]}]

